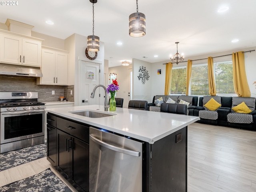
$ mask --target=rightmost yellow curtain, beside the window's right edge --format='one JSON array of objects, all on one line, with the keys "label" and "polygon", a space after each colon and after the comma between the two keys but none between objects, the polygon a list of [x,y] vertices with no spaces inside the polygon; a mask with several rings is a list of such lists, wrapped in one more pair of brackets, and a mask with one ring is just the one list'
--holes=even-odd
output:
[{"label": "rightmost yellow curtain, beside the window's right edge", "polygon": [[232,61],[235,92],[238,97],[250,97],[251,92],[248,86],[244,65],[244,52],[232,53]]}]

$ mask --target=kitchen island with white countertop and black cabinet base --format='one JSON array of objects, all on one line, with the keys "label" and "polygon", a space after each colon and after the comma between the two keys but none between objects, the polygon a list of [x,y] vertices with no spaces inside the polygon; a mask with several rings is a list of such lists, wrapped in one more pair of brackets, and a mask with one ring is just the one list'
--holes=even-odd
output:
[{"label": "kitchen island with white countertop and black cabinet base", "polygon": [[[84,113],[85,110],[104,114],[104,117],[92,118],[82,116],[81,114],[86,115]],[[48,135],[49,139],[52,138],[52,141],[49,141],[48,150],[50,150],[50,146],[52,148],[54,143],[56,144],[56,150],[54,150],[54,152],[50,151],[50,154],[47,154],[48,157],[50,156],[50,160],[48,160],[57,170],[64,172],[66,178],[69,179],[75,187],[76,185],[78,186],[76,188],[79,191],[89,191],[89,180],[90,185],[94,182],[94,179],[92,181],[91,175],[89,178],[88,172],[89,144],[91,147],[91,138],[89,143],[89,127],[91,127],[98,130],[103,129],[105,132],[124,137],[126,140],[140,142],[142,145],[142,151],[139,153],[141,168],[136,169],[136,177],[134,177],[134,180],[139,181],[140,184],[138,185],[137,182],[136,188],[132,188],[131,184],[125,183],[127,181],[122,181],[119,183],[120,186],[118,187],[121,187],[121,190],[112,188],[105,191],[186,192],[187,126],[199,120],[198,117],[127,108],[116,108],[114,112],[105,112],[104,106],[99,105],[52,108],[46,109],[46,112],[48,113],[47,122],[49,126],[56,128],[55,136],[54,134],[50,137]],[[53,129],[48,130],[52,131]],[[83,132],[81,133],[79,130],[83,130]],[[76,132],[77,135],[72,132]],[[81,136],[81,138],[78,138],[79,136]],[[84,145],[81,142],[84,142]],[[74,167],[77,163],[71,162],[70,166],[67,166],[70,169],[68,171],[70,172],[70,176],[67,174],[67,171],[65,171],[66,167],[61,168],[61,162],[63,158],[65,158],[61,151],[62,144],[67,145],[64,146],[64,151],[70,152],[73,150],[73,156],[68,156],[69,161],[70,159],[83,159],[84,163],[78,162],[78,164],[81,165],[80,170],[84,168],[83,172],[80,173],[80,175],[84,173],[82,181],[80,181],[81,178],[79,178],[78,181],[74,175]],[[112,144],[114,145],[114,141]],[[80,148],[77,146],[80,146]],[[130,149],[132,149],[132,147],[130,147]],[[80,151],[80,153],[86,155],[74,158],[74,154],[76,154],[75,150],[76,152]],[[90,156],[93,155],[91,151],[90,148]],[[79,156],[79,154],[77,155]],[[63,164],[66,164],[68,160],[66,158]],[[116,164],[119,164],[119,162]],[[129,164],[127,166],[132,167]],[[125,169],[125,165],[122,165],[120,169]],[[92,165],[90,166],[90,170],[92,170]],[[105,178],[108,177],[110,177],[110,175]],[[98,179],[99,178],[98,176]],[[123,178],[122,174],[120,178]],[[115,178],[115,180],[121,180],[120,178]],[[75,182],[76,180],[77,182]],[[98,185],[100,185],[100,182],[97,182]],[[134,181],[130,182],[133,184]],[[129,187],[127,188],[126,186]],[[97,191],[100,190],[98,189]]]}]

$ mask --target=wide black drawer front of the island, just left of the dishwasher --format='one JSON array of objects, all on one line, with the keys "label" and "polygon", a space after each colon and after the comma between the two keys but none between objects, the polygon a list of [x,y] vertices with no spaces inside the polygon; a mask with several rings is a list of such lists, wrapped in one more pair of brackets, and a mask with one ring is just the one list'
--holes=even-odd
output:
[{"label": "wide black drawer front of the island, just left of the dishwasher", "polygon": [[84,142],[89,143],[89,126],[84,126],[63,118],[56,117],[56,127]]}]

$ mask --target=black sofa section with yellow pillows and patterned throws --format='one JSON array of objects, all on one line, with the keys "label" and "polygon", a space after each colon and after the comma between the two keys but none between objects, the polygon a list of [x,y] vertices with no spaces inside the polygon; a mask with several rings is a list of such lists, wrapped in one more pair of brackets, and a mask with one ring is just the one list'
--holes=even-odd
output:
[{"label": "black sofa section with yellow pillows and patterned throws", "polygon": [[[207,110],[204,105],[210,98],[214,98],[221,106],[216,110]],[[242,102],[251,110],[250,113],[239,113],[232,110]],[[190,108],[190,115],[199,116],[200,120],[197,121],[199,123],[256,130],[255,102],[254,97],[204,96],[199,98],[198,106]]]}]

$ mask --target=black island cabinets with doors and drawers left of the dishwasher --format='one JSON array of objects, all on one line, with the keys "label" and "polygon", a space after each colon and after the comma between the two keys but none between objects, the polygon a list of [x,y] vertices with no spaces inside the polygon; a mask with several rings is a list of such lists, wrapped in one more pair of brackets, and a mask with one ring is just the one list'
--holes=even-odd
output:
[{"label": "black island cabinets with doors and drawers left of the dishwasher", "polygon": [[55,118],[55,137],[49,134],[47,138],[49,148],[54,149],[55,144],[55,163],[50,156],[47,159],[76,190],[89,192],[89,126],[58,116]]}]

